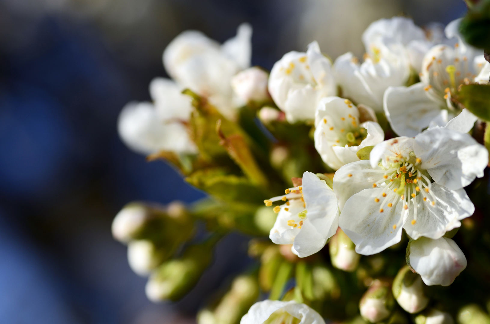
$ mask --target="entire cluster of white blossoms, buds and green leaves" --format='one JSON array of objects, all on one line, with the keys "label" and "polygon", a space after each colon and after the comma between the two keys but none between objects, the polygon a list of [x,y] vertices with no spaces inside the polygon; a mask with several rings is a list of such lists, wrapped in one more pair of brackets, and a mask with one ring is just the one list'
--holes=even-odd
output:
[{"label": "entire cluster of white blossoms, buds and green leaves", "polygon": [[[417,324],[453,323],[456,310],[429,286],[449,286],[466,268],[452,237],[474,228],[465,187],[489,163],[472,94],[490,102],[490,63],[460,23],[382,19],[362,36],[362,62],[350,52],[332,61],[313,42],[270,74],[249,67],[248,24],[222,45],[196,31],[177,36],[163,55],[173,80],[154,79],[152,103],[124,107],[119,132],[209,198],[178,212],[129,205],[114,220],[131,267],[150,275],[148,298],[185,295],[223,233],[240,230],[269,234],[250,241],[260,266],[200,311],[200,324],[356,314],[355,323],[408,323],[407,313]],[[260,291],[268,300],[254,304]]]}]

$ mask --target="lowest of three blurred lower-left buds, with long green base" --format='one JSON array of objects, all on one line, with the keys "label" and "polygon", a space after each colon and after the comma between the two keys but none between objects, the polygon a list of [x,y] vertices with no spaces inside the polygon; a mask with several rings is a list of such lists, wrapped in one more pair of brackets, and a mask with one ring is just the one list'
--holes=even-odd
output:
[{"label": "lowest of three blurred lower-left buds, with long green base", "polygon": [[145,289],[148,299],[179,300],[194,287],[210,261],[210,246],[190,246],[184,255],[165,262],[151,274]]}]

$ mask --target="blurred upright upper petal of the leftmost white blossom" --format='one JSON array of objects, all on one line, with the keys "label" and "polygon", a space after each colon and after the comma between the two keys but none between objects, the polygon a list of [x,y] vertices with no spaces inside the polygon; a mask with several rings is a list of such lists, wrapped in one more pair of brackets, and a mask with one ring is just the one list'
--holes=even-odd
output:
[{"label": "blurred upright upper petal of the leftmost white blossom", "polygon": [[192,111],[191,97],[182,94],[182,87],[166,78],[150,82],[150,94],[158,117],[162,120],[189,120]]}]

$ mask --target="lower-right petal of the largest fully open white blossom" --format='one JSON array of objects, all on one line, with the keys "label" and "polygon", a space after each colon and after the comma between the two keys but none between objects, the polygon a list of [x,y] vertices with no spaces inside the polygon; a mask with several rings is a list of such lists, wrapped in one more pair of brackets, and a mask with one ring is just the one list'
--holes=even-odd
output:
[{"label": "lower-right petal of the largest fully open white blossom", "polygon": [[463,188],[451,190],[433,183],[431,191],[435,196],[435,206],[432,206],[432,198],[424,202],[420,194],[416,197],[417,222],[415,225],[411,223],[414,219],[414,199],[412,198],[412,202],[409,203],[409,214],[403,228],[413,239],[421,236],[438,239],[446,231],[460,227],[459,221],[471,216],[475,211],[473,203]]}]

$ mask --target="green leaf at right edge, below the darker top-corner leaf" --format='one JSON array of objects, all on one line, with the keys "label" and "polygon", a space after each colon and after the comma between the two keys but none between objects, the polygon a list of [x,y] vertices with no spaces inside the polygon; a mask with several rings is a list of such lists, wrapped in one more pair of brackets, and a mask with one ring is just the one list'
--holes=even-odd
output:
[{"label": "green leaf at right edge, below the darker top-corner leaf", "polygon": [[470,84],[462,86],[451,100],[460,104],[475,116],[490,121],[490,85]]}]

